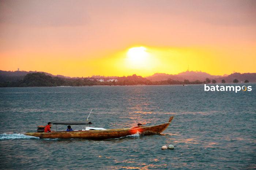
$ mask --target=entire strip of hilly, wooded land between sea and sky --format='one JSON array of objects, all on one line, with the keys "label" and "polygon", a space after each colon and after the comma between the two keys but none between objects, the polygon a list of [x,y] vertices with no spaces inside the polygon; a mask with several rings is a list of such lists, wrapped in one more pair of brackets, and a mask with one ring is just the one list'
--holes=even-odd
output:
[{"label": "entire strip of hilly, wooded land between sea and sky", "polygon": [[124,85],[167,85],[207,83],[256,82],[256,73],[233,73],[226,76],[210,75],[206,72],[185,71],[177,75],[155,73],[143,78],[132,76],[91,76],[71,78],[36,71],[1,71],[0,87],[52,87],[52,86],[124,86]]}]

